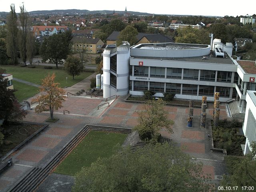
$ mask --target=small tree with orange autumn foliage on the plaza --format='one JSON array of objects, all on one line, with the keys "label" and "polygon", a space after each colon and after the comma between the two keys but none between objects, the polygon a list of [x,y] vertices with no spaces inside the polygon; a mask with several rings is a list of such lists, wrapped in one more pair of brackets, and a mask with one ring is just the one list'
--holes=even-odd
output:
[{"label": "small tree with orange autumn foliage on the plaza", "polygon": [[51,119],[53,120],[53,111],[58,110],[62,107],[62,102],[65,101],[66,96],[64,96],[64,89],[58,87],[59,83],[54,82],[55,74],[52,76],[48,74],[42,80],[42,86],[40,87],[40,92],[44,92],[46,94],[42,94],[37,98],[33,99],[32,102],[38,102],[39,104],[36,106],[36,113],[40,113],[43,111],[50,111]]}]

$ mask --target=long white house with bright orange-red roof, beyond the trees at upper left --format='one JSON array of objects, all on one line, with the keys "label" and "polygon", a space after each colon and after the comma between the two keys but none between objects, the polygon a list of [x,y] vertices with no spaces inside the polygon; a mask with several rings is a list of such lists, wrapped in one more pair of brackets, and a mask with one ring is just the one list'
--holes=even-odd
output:
[{"label": "long white house with bright orange-red roof, beyond the trees at upper left", "polygon": [[68,30],[68,26],[33,26],[34,36],[51,36]]}]

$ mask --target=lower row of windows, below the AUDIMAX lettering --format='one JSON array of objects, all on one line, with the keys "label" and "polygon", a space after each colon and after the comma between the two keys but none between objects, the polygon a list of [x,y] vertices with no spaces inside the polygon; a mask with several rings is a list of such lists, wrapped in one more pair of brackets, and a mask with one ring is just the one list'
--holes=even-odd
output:
[{"label": "lower row of windows, below the AUDIMAX lettering", "polygon": [[[214,86],[205,85],[194,85],[194,84],[179,84],[179,83],[166,83],[166,92],[172,92],[175,94],[183,95],[198,95],[199,96],[214,96]],[[164,92],[164,83],[162,82],[149,82],[149,89],[154,92]],[[145,91],[148,90],[148,82],[145,81],[134,81],[134,91]],[[220,96],[229,97],[230,88],[229,87],[219,87],[216,86],[216,92],[220,92]]]}]

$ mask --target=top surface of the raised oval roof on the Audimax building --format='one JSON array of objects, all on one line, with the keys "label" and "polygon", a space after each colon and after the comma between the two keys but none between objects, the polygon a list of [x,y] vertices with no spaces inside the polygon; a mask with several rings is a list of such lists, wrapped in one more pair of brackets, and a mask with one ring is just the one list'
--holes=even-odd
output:
[{"label": "top surface of the raised oval roof on the Audimax building", "polygon": [[153,49],[153,50],[187,50],[187,49],[202,49],[208,45],[203,44],[185,44],[185,43],[151,43],[139,44],[134,46],[134,49]]}]

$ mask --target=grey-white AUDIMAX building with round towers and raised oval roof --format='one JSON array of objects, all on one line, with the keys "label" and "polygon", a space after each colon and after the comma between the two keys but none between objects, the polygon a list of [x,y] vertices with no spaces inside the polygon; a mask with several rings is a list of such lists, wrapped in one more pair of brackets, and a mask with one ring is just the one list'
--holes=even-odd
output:
[{"label": "grey-white AUDIMAX building with round towers and raised oval roof", "polygon": [[[232,59],[231,43],[223,44],[214,39],[212,50],[210,45],[202,44],[139,44],[132,46],[129,54],[128,48],[126,54],[118,51],[123,47],[127,45],[104,51],[104,98],[128,92],[142,96],[143,91],[152,90],[157,97],[172,92],[180,99],[201,100],[205,95],[207,100],[213,101],[214,92],[220,92],[221,102],[234,98],[239,111],[244,112],[246,90],[256,90],[256,72],[253,71],[256,66],[250,64],[245,70],[248,66],[245,61]],[[125,57],[125,62],[118,62],[119,57]],[[121,72],[118,67],[122,68]],[[122,77],[121,82],[119,77]]]}]

